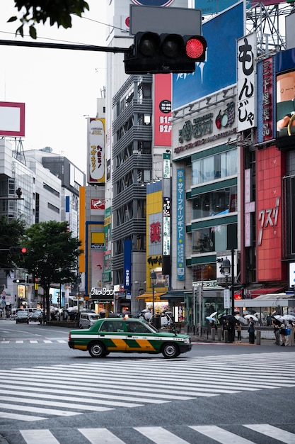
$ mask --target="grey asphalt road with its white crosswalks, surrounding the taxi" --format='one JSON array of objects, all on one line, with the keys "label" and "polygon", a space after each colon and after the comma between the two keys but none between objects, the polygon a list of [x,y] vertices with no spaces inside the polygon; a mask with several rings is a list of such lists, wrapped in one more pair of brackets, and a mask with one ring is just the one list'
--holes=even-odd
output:
[{"label": "grey asphalt road with its white crosswalks, surrounding the taxi", "polygon": [[68,331],[0,321],[1,444],[295,443],[295,348],[96,360]]}]

